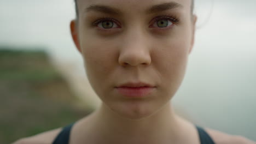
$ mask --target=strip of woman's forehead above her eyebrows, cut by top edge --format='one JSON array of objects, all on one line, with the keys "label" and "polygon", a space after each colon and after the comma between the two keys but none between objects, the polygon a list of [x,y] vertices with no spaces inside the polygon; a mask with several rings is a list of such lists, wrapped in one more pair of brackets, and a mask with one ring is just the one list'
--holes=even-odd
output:
[{"label": "strip of woman's forehead above her eyebrows, cut by top edge", "polygon": [[92,5],[106,5],[127,13],[142,13],[152,8],[154,5],[164,3],[177,3],[180,6],[177,7],[177,9],[189,11],[191,1],[192,0],[77,0],[77,4],[80,12],[84,12],[86,8]]}]

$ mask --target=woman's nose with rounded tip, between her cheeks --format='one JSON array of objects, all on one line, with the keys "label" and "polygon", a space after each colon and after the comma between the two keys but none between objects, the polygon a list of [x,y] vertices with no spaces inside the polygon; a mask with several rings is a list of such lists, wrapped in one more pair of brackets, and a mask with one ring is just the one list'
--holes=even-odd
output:
[{"label": "woman's nose with rounded tip, between her cheeks", "polygon": [[121,41],[118,62],[122,66],[150,65],[150,47],[147,38],[142,34],[126,34]]}]

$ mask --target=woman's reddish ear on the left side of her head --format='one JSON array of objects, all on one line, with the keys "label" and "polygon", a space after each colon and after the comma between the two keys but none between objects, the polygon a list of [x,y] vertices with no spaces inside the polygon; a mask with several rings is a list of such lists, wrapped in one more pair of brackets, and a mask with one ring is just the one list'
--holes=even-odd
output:
[{"label": "woman's reddish ear on the left side of her head", "polygon": [[78,38],[78,28],[77,28],[77,23],[75,20],[72,20],[70,22],[70,31],[71,31],[71,35],[74,41],[75,46],[77,47],[77,50],[82,53],[80,44],[79,44],[79,38]]}]

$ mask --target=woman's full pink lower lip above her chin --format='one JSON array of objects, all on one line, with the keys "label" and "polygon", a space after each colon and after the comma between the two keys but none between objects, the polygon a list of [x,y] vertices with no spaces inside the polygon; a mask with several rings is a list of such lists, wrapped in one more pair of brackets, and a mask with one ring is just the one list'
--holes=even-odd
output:
[{"label": "woman's full pink lower lip above her chin", "polygon": [[152,93],[155,87],[117,87],[120,94],[125,97],[146,97],[148,94]]}]

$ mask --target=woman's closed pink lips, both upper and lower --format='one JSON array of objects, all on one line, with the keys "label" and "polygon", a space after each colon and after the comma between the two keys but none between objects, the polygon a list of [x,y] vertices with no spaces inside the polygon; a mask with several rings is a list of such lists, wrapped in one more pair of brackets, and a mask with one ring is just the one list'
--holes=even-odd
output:
[{"label": "woman's closed pink lips, both upper and lower", "polygon": [[115,88],[117,89],[118,93],[124,97],[143,98],[152,93],[156,87],[148,83],[138,82],[125,83]]}]

